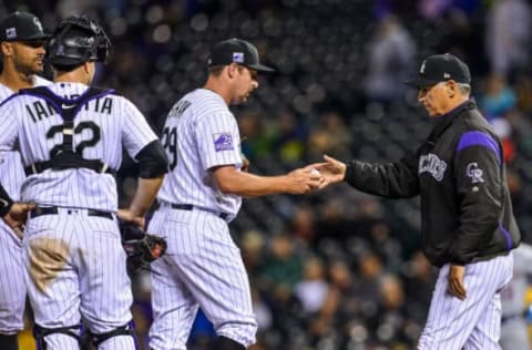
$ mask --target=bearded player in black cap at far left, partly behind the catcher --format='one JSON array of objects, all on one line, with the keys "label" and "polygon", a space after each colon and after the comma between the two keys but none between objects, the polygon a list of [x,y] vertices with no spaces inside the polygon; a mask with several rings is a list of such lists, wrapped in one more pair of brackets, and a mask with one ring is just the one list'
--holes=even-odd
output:
[{"label": "bearded player in black cap at far left, partly behind the catcher", "polygon": [[[44,33],[39,19],[27,12],[13,12],[0,23],[0,45],[3,59],[0,74],[0,101],[19,89],[50,82],[35,75],[43,70]],[[25,174],[18,152],[0,164],[0,182],[10,196],[20,198],[20,186]],[[22,240],[0,222],[0,349],[18,349],[17,332],[23,329],[25,285],[23,280]]]}]

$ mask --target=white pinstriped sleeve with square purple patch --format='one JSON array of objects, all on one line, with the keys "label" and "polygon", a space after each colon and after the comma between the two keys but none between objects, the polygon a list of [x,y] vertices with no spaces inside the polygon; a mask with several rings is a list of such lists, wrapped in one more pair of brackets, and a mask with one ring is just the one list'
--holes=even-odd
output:
[{"label": "white pinstriped sleeve with square purple patch", "polygon": [[206,171],[217,165],[242,167],[241,134],[235,117],[227,112],[208,114],[196,125],[196,142]]}]

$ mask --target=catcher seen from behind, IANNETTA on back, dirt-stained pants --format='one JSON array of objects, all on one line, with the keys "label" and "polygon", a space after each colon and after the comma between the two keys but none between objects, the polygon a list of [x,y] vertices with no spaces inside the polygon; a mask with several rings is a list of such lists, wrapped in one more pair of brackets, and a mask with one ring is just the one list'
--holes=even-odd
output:
[{"label": "catcher seen from behind, IANNETTA on back, dirt-stained pants", "polygon": [[139,161],[136,194],[120,215],[142,224],[166,156],[129,100],[89,86],[110,45],[89,18],[61,21],[48,52],[54,83],[21,90],[0,106],[0,151],[19,144],[28,175],[21,199],[37,205],[23,249],[34,336],[43,350],[79,349],[82,317],[99,349],[135,348],[113,173],[123,148]]}]

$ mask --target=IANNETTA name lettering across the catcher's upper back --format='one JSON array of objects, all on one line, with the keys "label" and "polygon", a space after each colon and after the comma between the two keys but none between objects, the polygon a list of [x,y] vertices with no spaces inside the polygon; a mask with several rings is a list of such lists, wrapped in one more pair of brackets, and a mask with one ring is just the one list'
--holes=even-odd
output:
[{"label": "IANNETTA name lettering across the catcher's upper back", "polygon": [[[61,105],[61,107],[63,110],[75,107],[75,104],[69,103],[69,101],[75,100],[78,97],[79,95],[70,96],[69,100]],[[103,96],[103,97],[96,97],[96,99],[90,100],[89,102],[85,103],[84,110],[85,111],[91,110],[94,113],[101,113],[101,114],[105,114],[105,113],[112,114],[113,99],[111,99],[110,96]],[[28,112],[29,116],[34,123],[42,121],[43,117],[49,117],[58,113],[53,107],[53,105],[50,102],[47,102],[44,100],[37,100],[37,101],[33,101],[32,103],[25,104],[25,111]]]}]

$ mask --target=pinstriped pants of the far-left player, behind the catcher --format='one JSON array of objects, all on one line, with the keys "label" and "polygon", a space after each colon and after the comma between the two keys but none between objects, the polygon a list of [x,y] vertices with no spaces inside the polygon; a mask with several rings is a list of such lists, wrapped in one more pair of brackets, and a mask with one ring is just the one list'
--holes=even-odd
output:
[{"label": "pinstriped pants of the far-left player, behind the catcher", "polygon": [[21,331],[25,305],[22,241],[0,220],[0,334]]}]

